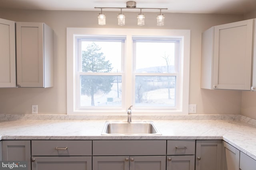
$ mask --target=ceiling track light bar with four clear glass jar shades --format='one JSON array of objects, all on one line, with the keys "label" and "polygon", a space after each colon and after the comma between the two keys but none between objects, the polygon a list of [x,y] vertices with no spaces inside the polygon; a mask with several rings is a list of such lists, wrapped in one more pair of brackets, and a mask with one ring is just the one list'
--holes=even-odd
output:
[{"label": "ceiling track light bar with four clear glass jar shades", "polygon": [[161,10],[168,10],[168,8],[136,8],[136,2],[135,1],[128,1],[126,2],[126,7],[125,8],[117,8],[117,7],[94,7],[94,8],[100,8],[101,12],[98,15],[98,23],[99,25],[105,25],[106,24],[106,15],[102,13],[102,9],[110,9],[110,8],[115,8],[115,9],[120,9],[121,12],[118,14],[118,25],[124,25],[125,24],[125,16],[122,13],[122,9],[140,9],[140,13],[137,15],[137,24],[138,25],[145,25],[145,16],[142,13],[142,9],[152,9],[152,10],[160,10],[160,14],[157,15],[157,25],[162,26],[164,25],[164,14],[162,14]]}]

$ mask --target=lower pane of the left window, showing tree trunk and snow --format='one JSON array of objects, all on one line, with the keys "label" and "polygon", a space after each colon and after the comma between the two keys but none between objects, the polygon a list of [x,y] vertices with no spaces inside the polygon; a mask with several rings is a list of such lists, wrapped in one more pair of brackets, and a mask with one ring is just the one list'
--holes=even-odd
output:
[{"label": "lower pane of the left window, showing tree trunk and snow", "polygon": [[80,106],[121,106],[122,76],[81,75]]}]

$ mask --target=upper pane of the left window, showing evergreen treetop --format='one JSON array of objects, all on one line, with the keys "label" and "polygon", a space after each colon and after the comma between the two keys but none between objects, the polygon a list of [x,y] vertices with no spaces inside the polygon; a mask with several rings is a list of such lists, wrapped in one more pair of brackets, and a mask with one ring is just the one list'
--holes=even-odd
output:
[{"label": "upper pane of the left window, showing evergreen treetop", "polygon": [[82,72],[121,72],[120,41],[82,41]]}]

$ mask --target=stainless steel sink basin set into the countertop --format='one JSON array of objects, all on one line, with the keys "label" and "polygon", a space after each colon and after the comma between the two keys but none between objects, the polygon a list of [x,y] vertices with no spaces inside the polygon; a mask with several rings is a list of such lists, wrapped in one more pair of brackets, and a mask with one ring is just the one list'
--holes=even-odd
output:
[{"label": "stainless steel sink basin set into the countertop", "polygon": [[152,121],[106,121],[102,135],[162,135]]}]

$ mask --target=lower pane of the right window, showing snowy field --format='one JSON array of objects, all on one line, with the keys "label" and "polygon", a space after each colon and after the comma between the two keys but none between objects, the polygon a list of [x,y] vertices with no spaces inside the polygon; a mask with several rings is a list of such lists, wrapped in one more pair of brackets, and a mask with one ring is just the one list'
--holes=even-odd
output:
[{"label": "lower pane of the right window, showing snowy field", "polygon": [[176,76],[136,76],[136,106],[175,106]]}]

